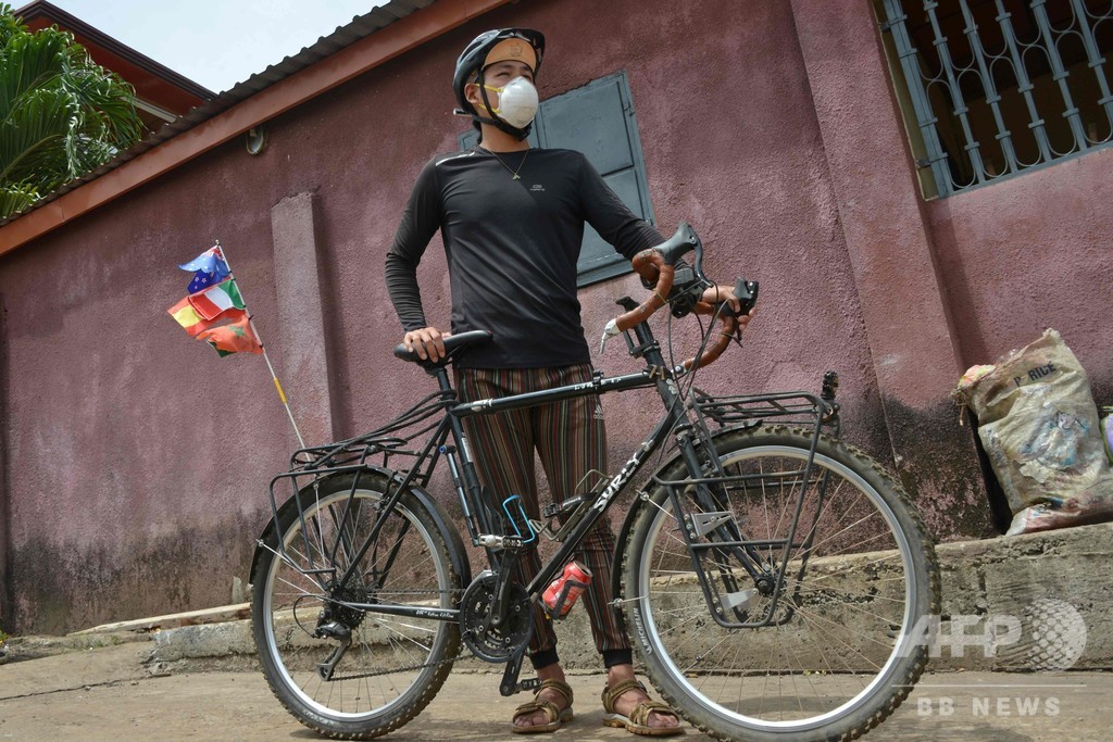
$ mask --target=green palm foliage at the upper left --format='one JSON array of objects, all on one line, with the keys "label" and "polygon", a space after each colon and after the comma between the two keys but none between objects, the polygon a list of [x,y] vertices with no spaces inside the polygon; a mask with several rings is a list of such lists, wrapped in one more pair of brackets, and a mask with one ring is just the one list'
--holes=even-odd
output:
[{"label": "green palm foliage at the upper left", "polygon": [[31,33],[0,3],[0,218],[80,178],[142,135],[135,89],[73,36]]}]

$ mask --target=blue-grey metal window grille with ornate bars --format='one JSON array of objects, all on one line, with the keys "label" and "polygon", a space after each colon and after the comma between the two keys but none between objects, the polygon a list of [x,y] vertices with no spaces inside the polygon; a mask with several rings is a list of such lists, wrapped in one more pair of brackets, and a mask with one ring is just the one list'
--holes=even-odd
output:
[{"label": "blue-grey metal window grille with ornate bars", "polygon": [[926,195],[948,196],[1113,141],[1113,1],[881,6]]}]

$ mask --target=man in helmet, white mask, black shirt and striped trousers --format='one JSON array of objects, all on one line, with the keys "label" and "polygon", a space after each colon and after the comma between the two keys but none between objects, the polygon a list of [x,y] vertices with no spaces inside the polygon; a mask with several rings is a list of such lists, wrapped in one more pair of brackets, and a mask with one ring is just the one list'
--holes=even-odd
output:
[{"label": "man in helmet, white mask, black shirt and striped trousers", "polygon": [[[627,258],[664,241],[630,212],[583,155],[530,149],[525,138],[538,106],[533,77],[543,53],[544,37],[538,31],[501,29],[479,36],[460,56],[456,100],[480,130],[480,145],[426,164],[386,258],[386,285],[405,329],[403,343],[421,358],[437,360],[444,355],[444,335],[425,319],[416,268],[441,230],[452,286],[452,332],[494,334],[493,343],[469,349],[455,363],[456,388],[464,399],[591,379],[575,285],[584,222]],[[727,300],[738,309],[727,289],[709,289],[703,299]],[[585,478],[583,488],[590,489],[588,473],[607,467],[601,412],[595,398],[580,397],[469,418],[466,432],[484,486],[503,497],[521,494],[526,514],[536,518],[536,451],[554,496],[577,494]],[[651,702],[634,680],[629,640],[608,605],[614,553],[609,526],[601,524],[585,541],[578,558],[594,575],[585,603],[608,671],[604,723],[639,734],[681,733],[676,713]],[[523,578],[539,568],[532,552]],[[552,625],[540,611],[530,659],[543,684],[533,702],[514,712],[512,730],[552,732],[572,718],[572,691]]]}]

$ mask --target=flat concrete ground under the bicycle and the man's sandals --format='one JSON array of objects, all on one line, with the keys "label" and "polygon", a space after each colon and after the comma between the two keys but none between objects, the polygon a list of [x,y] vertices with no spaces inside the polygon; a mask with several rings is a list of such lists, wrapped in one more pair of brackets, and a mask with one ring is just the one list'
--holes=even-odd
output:
[{"label": "flat concrete ground under the bicycle and the man's sandals", "polygon": [[[128,642],[0,666],[0,740],[319,739],[270,694],[248,661],[175,666],[147,662],[152,643]],[[524,696],[499,695],[498,672],[454,672],[433,703],[387,740],[521,740],[506,730]],[[601,725],[601,674],[575,673],[577,719],[559,740],[627,740]],[[868,740],[1022,742],[1109,740],[1113,673],[937,672]],[[536,738],[535,738],[536,739]],[[549,738],[545,738],[549,739]],[[709,739],[691,729],[683,738]]]}]

